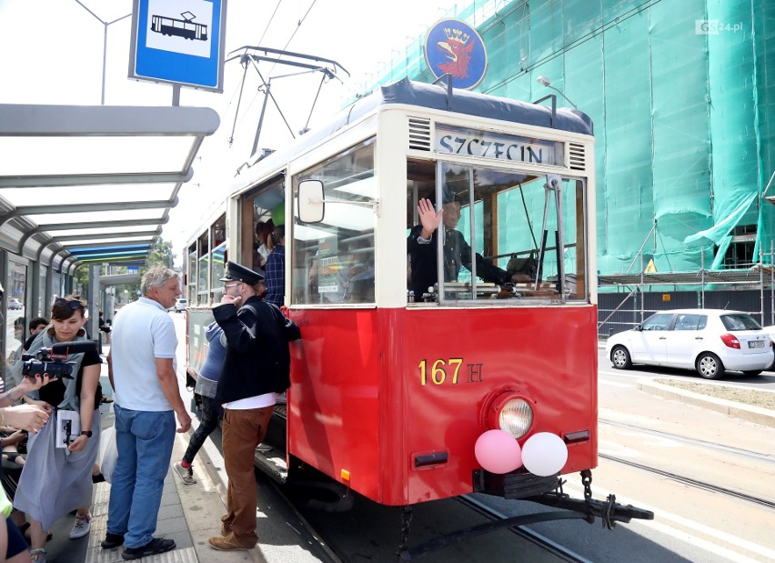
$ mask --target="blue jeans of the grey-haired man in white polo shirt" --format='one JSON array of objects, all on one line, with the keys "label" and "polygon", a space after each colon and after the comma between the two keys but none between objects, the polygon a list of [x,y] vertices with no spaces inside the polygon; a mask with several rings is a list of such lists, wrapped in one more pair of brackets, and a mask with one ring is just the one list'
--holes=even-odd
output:
[{"label": "blue jeans of the grey-haired man in white polo shirt", "polygon": [[114,404],[118,461],[110,486],[107,531],[126,548],[151,541],[175,440],[175,412],[130,410]]}]

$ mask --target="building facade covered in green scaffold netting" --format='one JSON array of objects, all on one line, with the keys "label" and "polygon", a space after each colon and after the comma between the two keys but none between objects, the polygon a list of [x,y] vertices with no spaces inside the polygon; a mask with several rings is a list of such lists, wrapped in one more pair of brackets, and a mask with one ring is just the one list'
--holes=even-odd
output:
[{"label": "building facade covered in green scaffold netting", "polygon": [[[487,47],[475,90],[533,101],[542,76],[592,118],[602,276],[772,263],[775,2],[482,0],[447,17]],[[380,83],[432,82],[423,43]]]}]

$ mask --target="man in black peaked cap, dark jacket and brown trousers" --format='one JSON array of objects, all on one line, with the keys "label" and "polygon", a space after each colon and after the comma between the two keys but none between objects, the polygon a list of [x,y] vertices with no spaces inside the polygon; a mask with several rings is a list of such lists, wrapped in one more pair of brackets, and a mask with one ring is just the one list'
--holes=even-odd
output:
[{"label": "man in black peaked cap, dark jacket and brown trousers", "polygon": [[226,265],[223,297],[213,317],[226,336],[226,357],[216,401],[224,406],[223,452],[228,477],[226,515],[213,548],[251,549],[257,544],[256,477],[253,459],[277,393],[290,387],[288,342],[301,337],[298,327],[277,306],[258,298],[264,277],[235,262]]}]

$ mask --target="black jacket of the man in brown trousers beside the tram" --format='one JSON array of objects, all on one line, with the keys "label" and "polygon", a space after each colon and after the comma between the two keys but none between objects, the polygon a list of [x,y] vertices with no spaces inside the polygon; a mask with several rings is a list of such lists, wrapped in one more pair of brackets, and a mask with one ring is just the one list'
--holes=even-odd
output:
[{"label": "black jacket of the man in brown trousers beside the tram", "polygon": [[213,309],[226,335],[226,357],[218,379],[216,400],[228,403],[290,387],[288,342],[301,337],[296,324],[280,309],[250,297],[237,310],[233,305]]}]

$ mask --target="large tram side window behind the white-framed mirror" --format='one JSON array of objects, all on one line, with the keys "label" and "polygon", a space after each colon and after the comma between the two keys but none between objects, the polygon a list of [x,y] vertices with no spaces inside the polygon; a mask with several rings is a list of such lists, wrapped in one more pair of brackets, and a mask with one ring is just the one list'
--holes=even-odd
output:
[{"label": "large tram side window behind the white-framed mirror", "polygon": [[[326,214],[305,225],[294,217],[292,303],[371,304],[374,295],[373,139],[330,158],[295,178],[322,180]],[[359,205],[360,204],[360,205]]]}]

